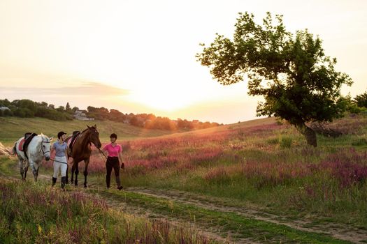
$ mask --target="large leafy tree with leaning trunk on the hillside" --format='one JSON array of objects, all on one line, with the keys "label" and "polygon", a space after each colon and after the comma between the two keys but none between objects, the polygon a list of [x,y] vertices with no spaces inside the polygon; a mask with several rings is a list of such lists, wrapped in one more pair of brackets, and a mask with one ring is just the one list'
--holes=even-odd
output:
[{"label": "large leafy tree with leaning trunk on the hillside", "polygon": [[254,15],[240,13],[233,39],[216,34],[203,52],[196,54],[214,79],[224,85],[248,78],[250,96],[264,96],[257,116],[277,116],[289,121],[308,144],[317,146],[312,121],[332,121],[343,116],[343,84],[352,79],[334,68],[336,59],[325,56],[322,40],[307,29],[292,34],[285,29],[282,15],[267,13],[262,24]]}]

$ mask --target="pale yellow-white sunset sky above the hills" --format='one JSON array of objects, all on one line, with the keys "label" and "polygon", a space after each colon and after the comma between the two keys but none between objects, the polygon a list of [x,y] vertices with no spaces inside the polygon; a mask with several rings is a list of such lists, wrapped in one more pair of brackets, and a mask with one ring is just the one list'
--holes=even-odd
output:
[{"label": "pale yellow-white sunset sky above the hills", "polygon": [[283,15],[323,40],[336,69],[367,90],[367,1],[0,0],[0,99],[106,107],[170,119],[256,118],[246,82],[222,86],[196,61],[199,43],[231,38],[238,13]]}]

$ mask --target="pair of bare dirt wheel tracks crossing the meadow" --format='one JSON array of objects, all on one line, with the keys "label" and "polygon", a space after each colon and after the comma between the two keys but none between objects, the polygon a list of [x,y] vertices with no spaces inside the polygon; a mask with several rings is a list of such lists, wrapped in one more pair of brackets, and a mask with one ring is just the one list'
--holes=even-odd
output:
[{"label": "pair of bare dirt wheel tracks crossing the meadow", "polygon": [[[12,176],[8,176],[9,178],[15,178]],[[19,178],[18,178],[19,179]],[[51,176],[40,174],[38,175],[38,179],[41,181],[51,181]],[[33,177],[27,179],[27,181],[33,181]],[[77,188],[71,186],[71,190],[80,190],[85,192],[86,194],[93,194],[91,192],[87,192],[87,190],[104,190],[104,187],[98,183],[94,183],[93,181],[89,182],[88,188],[85,189],[82,185],[79,185]],[[243,215],[247,218],[253,218],[255,220],[261,220],[265,222],[271,222],[275,224],[282,224],[287,227],[291,227],[293,229],[298,229],[300,231],[308,231],[319,234],[329,234],[334,238],[338,238],[344,241],[350,241],[352,243],[365,243],[362,241],[367,240],[367,231],[361,229],[352,229],[347,226],[332,225],[332,224],[323,224],[322,227],[305,227],[305,224],[309,224],[310,222],[305,220],[286,220],[278,215],[271,215],[262,211],[257,211],[250,208],[238,207],[238,206],[226,206],[226,204],[222,204],[221,199],[216,199],[215,197],[210,197],[210,200],[201,195],[195,195],[189,192],[180,192],[176,190],[152,190],[147,188],[127,188],[125,189],[129,192],[135,192],[142,195],[148,195],[151,197],[157,197],[161,199],[169,199],[171,201],[176,201],[182,204],[192,204],[194,206],[198,206],[200,208],[206,208],[213,211],[221,211],[224,213],[236,213],[238,215]],[[117,210],[124,211],[126,213],[132,215],[141,215],[150,219],[168,221],[173,226],[180,227],[189,227],[192,229],[198,230],[201,236],[206,236],[215,241],[219,241],[221,243],[233,243],[231,241],[231,234],[228,235],[227,238],[223,238],[220,236],[220,231],[214,228],[201,227],[199,224],[194,222],[186,222],[180,219],[175,218],[166,218],[164,215],[159,215],[157,213],[153,213],[149,211],[149,209],[131,206],[122,201],[118,201],[111,197],[103,197],[98,193],[94,194],[96,197],[104,199],[108,206]],[[236,238],[236,243],[255,243],[254,241],[246,238]]]}]

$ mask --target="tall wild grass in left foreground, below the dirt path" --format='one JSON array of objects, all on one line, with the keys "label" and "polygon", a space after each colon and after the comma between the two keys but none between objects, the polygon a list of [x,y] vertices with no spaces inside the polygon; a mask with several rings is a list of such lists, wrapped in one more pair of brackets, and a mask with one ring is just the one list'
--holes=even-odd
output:
[{"label": "tall wild grass in left foreground, below the dirt path", "polygon": [[82,192],[0,179],[0,243],[213,243],[192,229],[124,215]]}]

